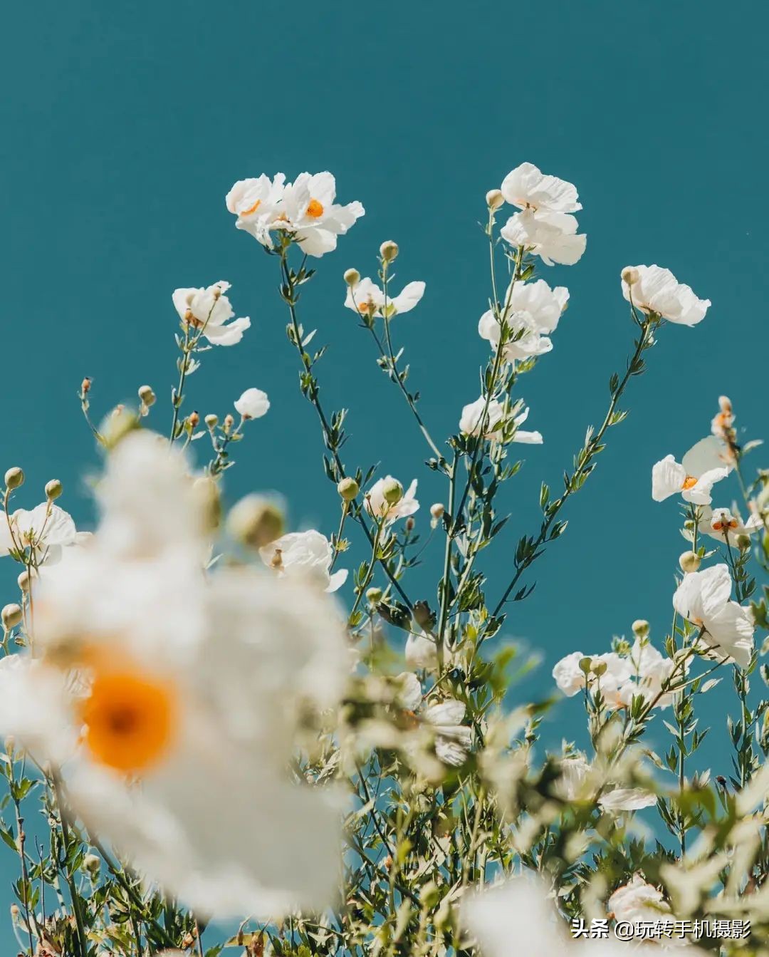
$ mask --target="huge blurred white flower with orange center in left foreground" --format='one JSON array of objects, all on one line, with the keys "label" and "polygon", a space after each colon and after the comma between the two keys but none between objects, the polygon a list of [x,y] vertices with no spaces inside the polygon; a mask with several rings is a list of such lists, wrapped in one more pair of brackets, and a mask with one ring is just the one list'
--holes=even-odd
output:
[{"label": "huge blurred white flower with orange center in left foreground", "polygon": [[[148,436],[132,438],[116,450],[125,446],[123,464],[136,454],[146,465],[147,450],[162,474],[178,463]],[[63,761],[85,825],[201,915],[269,920],[325,907],[338,883],[339,809],[286,768],[307,716],[340,701],[339,612],[319,590],[252,569],[204,579],[180,549],[187,529],[167,519],[165,540],[121,550],[143,538],[115,530],[131,508],[143,527],[144,496],[108,479],[94,538],[41,581],[38,658],[15,667],[11,700],[0,687],[0,733]],[[161,486],[143,489],[153,514]],[[177,499],[193,507],[184,481],[163,487],[169,516],[180,515]],[[16,706],[25,700],[35,708]]]}]

